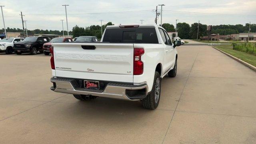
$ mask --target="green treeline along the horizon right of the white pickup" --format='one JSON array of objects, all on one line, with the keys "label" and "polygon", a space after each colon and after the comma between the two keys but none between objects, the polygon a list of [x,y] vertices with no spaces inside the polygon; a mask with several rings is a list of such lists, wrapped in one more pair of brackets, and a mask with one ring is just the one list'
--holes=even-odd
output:
[{"label": "green treeline along the horizon right of the white pickup", "polygon": [[[164,23],[162,27],[165,28],[168,32],[175,32],[174,25]],[[207,25],[206,24],[199,24],[199,32],[198,38],[200,36],[207,36],[206,32]],[[250,32],[256,32],[256,24],[251,24]],[[185,39],[196,39],[197,38],[197,30],[198,30],[198,23],[187,24],[186,22],[178,23],[177,24],[177,32],[180,38]],[[228,35],[228,34],[239,34],[241,32],[248,32],[249,24],[243,26],[242,24],[236,25],[217,25],[212,26],[211,34],[220,34],[220,35]]]}]

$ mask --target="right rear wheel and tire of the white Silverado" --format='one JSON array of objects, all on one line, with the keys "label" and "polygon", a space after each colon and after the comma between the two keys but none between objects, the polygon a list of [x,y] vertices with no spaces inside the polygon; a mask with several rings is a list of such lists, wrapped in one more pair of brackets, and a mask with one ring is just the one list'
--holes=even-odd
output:
[{"label": "right rear wheel and tire of the white Silverado", "polygon": [[155,72],[154,83],[150,94],[146,98],[142,99],[142,106],[146,109],[156,109],[161,95],[161,78],[158,72]]}]

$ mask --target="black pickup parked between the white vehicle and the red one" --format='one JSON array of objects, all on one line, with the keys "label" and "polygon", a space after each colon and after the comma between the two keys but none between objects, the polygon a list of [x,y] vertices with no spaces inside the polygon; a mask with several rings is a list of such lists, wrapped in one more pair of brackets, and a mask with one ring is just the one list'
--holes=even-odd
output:
[{"label": "black pickup parked between the white vehicle and the red one", "polygon": [[44,36],[30,36],[25,38],[21,42],[16,42],[14,44],[14,52],[16,54],[22,54],[24,52],[29,52],[30,54],[37,54],[39,51],[43,53],[43,44],[49,42],[48,37]]}]

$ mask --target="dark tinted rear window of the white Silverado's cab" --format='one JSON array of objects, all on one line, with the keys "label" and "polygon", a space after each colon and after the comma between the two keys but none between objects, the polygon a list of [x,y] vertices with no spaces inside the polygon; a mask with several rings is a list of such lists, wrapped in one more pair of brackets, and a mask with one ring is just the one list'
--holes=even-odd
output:
[{"label": "dark tinted rear window of the white Silverado's cab", "polygon": [[155,28],[110,28],[102,42],[158,44],[158,39]]}]

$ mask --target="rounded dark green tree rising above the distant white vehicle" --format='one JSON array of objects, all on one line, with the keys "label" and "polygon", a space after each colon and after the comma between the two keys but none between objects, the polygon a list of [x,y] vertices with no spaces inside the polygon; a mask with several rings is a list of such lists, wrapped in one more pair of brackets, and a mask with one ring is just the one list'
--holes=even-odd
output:
[{"label": "rounded dark green tree rising above the distant white vehicle", "polygon": [[179,22],[177,24],[177,32],[180,38],[189,39],[190,25],[187,24],[186,22],[182,22],[182,23]]}]

